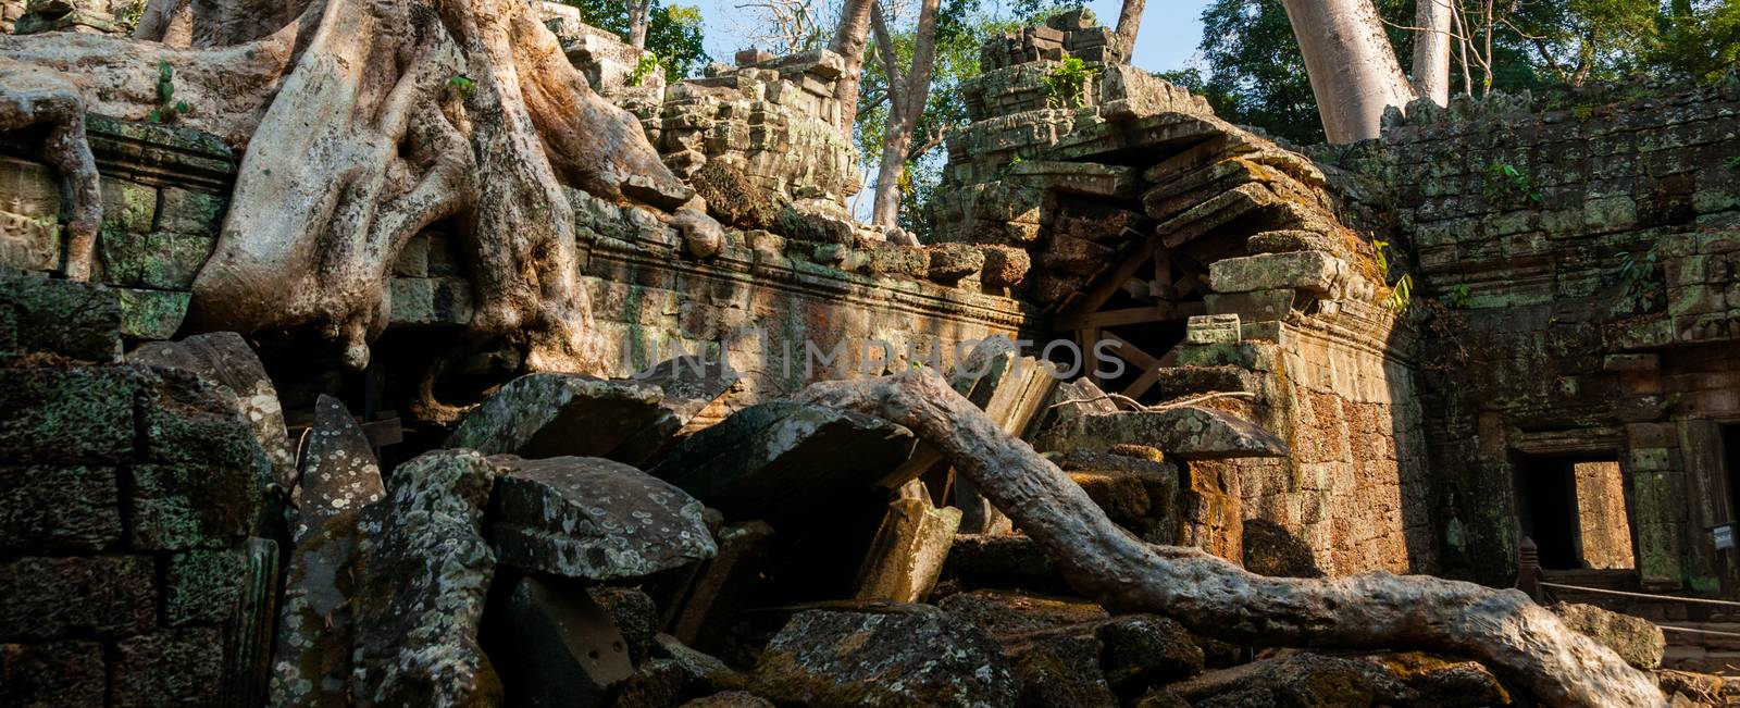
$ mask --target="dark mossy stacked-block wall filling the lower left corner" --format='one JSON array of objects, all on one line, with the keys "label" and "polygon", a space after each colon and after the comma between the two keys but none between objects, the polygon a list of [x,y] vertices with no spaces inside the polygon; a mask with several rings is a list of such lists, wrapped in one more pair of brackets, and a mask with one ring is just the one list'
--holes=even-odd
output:
[{"label": "dark mossy stacked-block wall filling the lower left corner", "polygon": [[0,275],[0,705],[259,705],[270,463],[122,325],[115,289]]}]

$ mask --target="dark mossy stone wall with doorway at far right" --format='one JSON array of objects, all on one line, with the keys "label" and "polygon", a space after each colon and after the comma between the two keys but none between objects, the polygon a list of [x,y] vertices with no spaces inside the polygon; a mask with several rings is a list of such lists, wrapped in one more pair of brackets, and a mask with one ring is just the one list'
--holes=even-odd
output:
[{"label": "dark mossy stone wall with doorway at far right", "polygon": [[1737,518],[1740,80],[1575,101],[1415,106],[1321,155],[1411,261],[1441,531],[1456,572],[1507,583],[1522,475],[1616,459],[1637,583],[1733,588],[1707,529]]}]

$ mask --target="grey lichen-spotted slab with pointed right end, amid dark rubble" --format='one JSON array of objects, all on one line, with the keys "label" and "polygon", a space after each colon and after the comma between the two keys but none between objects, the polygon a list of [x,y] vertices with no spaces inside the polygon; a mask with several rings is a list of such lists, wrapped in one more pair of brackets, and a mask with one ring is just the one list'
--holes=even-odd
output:
[{"label": "grey lichen-spotted slab with pointed right end, amid dark rubble", "polygon": [[607,581],[712,558],[701,503],[663,480],[602,458],[496,464],[489,538],[503,564]]}]

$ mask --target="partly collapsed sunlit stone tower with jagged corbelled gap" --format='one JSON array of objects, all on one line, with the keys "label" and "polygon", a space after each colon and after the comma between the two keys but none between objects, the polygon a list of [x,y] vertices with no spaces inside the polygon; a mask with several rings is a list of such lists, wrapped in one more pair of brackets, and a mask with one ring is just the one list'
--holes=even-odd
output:
[{"label": "partly collapsed sunlit stone tower with jagged corbelled gap", "polygon": [[[1436,569],[1411,339],[1380,304],[1369,237],[1343,224],[1310,160],[1100,63],[1115,47],[1094,37],[1105,28],[1068,12],[985,47],[936,231],[1021,250],[1020,287],[1060,336],[1084,350],[1119,337],[1143,376],[1101,386],[1143,402],[1249,395],[1213,405],[1291,452],[1190,459],[1187,543],[1239,558],[1241,520],[1263,518],[1333,574]],[[1063,96],[1068,57],[1084,80]]]}]

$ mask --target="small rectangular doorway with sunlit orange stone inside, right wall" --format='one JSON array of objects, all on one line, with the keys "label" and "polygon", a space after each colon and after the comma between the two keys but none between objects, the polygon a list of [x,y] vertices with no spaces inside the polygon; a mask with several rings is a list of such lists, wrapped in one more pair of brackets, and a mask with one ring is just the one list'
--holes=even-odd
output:
[{"label": "small rectangular doorway with sunlit orange stone inside, right wall", "polygon": [[1634,571],[1625,475],[1616,459],[1522,458],[1517,517],[1547,571]]}]

